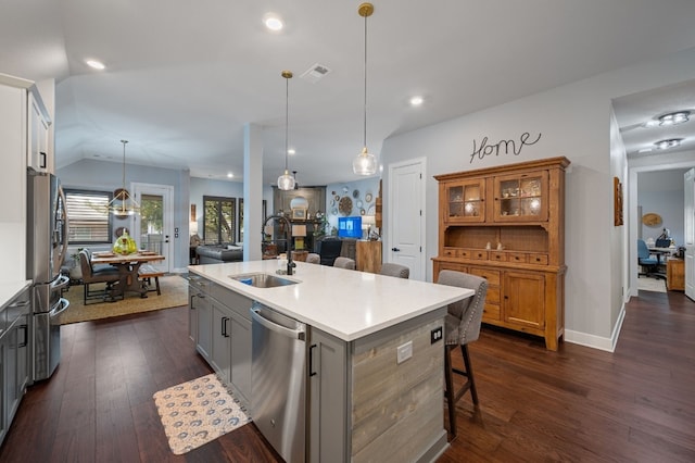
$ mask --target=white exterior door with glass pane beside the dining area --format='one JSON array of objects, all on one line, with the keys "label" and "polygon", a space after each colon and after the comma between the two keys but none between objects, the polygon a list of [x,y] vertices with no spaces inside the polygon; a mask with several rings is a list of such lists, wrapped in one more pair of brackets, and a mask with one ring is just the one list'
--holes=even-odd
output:
[{"label": "white exterior door with glass pane beside the dining area", "polygon": [[159,252],[163,261],[150,264],[160,272],[174,267],[174,187],[170,185],[132,184],[140,213],[135,216],[132,238],[138,249]]}]

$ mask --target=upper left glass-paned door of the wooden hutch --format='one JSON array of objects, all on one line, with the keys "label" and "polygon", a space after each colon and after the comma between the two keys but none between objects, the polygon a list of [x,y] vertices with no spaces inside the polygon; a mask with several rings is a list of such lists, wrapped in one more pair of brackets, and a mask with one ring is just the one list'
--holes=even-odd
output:
[{"label": "upper left glass-paned door of the wooden hutch", "polygon": [[443,184],[440,190],[445,223],[485,222],[485,179]]}]

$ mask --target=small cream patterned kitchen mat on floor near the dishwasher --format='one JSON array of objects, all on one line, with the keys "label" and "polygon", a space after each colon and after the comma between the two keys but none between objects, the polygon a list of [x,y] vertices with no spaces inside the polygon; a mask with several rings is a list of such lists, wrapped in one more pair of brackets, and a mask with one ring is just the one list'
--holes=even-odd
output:
[{"label": "small cream patterned kitchen mat on floor near the dishwasher", "polygon": [[251,422],[214,373],[155,392],[153,398],[169,448],[177,455]]}]

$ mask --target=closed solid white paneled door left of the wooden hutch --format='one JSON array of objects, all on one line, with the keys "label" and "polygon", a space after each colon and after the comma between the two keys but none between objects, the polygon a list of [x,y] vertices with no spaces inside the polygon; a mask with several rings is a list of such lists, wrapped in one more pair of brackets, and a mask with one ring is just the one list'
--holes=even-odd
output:
[{"label": "closed solid white paneled door left of the wooden hutch", "polygon": [[389,166],[387,262],[406,265],[410,279],[425,280],[425,159]]}]

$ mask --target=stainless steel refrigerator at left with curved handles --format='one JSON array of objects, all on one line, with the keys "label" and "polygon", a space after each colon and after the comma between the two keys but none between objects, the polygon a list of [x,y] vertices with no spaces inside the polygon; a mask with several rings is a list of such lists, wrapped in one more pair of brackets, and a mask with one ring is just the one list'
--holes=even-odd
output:
[{"label": "stainless steel refrigerator at left with curved handles", "polygon": [[59,315],[70,306],[62,297],[70,283],[61,275],[67,252],[65,196],[58,177],[27,171],[27,279],[31,296],[31,380],[48,379],[61,361]]}]

